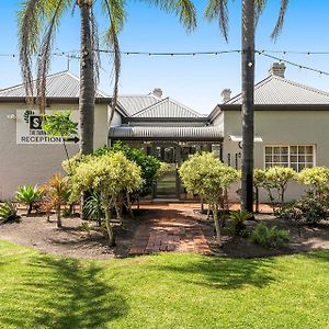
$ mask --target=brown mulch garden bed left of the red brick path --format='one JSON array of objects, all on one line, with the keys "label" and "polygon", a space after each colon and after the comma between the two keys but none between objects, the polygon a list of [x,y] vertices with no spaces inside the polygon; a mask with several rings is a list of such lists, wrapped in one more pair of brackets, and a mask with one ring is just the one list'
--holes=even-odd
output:
[{"label": "brown mulch garden bed left of the red brick path", "polygon": [[[89,230],[82,228],[87,223]],[[22,216],[18,223],[0,225],[0,239],[32,247],[39,251],[80,259],[111,259],[127,256],[138,220],[115,226],[116,247],[107,246],[104,230],[95,222],[79,217],[63,218],[63,228],[57,228],[56,216]]]}]

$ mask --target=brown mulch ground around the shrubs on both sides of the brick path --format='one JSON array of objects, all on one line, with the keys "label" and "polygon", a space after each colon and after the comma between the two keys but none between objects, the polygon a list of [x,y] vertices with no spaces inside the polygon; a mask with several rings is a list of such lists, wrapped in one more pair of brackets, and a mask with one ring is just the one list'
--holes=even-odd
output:
[{"label": "brown mulch ground around the shrubs on both sides of the brick path", "polygon": [[[224,228],[222,249],[217,248],[214,240],[213,220],[207,219],[206,215],[193,211],[191,206],[182,204],[170,204],[160,206],[145,206],[135,211],[135,219],[126,217],[123,227],[116,226],[115,237],[116,247],[107,246],[107,238],[104,230],[97,226],[94,222],[88,223],[89,231],[82,228],[83,223],[80,218],[63,218],[63,228],[56,227],[55,216],[50,217],[50,223],[46,217],[22,216],[21,222],[0,225],[0,239],[15,242],[22,246],[32,247],[45,253],[81,258],[81,259],[112,259],[129,256],[129,250],[136,241],[138,228],[145,226],[147,220],[158,220],[159,218],[175,216],[186,216],[189,220],[194,219],[201,227],[207,245],[213,256],[224,256],[231,258],[254,258],[270,257],[279,254],[290,254],[306,252],[316,249],[329,249],[329,224],[320,223],[318,226],[305,226],[302,228],[302,237],[298,237],[298,229],[292,223],[276,219],[271,215],[258,215],[257,220],[249,220],[247,227],[251,230],[258,223],[265,222],[269,225],[276,225],[279,228],[290,230],[291,243],[280,250],[264,249],[251,243],[246,238],[231,237]],[[227,223],[229,226],[229,222]],[[162,227],[163,229],[163,227]],[[184,234],[186,236],[186,234]],[[188,235],[189,236],[189,235]],[[159,251],[162,251],[159,249]],[[169,251],[169,250],[168,250]],[[180,251],[179,248],[177,251]]]}]

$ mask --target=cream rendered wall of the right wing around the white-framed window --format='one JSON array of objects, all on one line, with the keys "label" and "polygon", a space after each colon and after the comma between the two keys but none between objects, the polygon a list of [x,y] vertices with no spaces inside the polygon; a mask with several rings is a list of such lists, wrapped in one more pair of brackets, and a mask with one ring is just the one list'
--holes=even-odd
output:
[{"label": "cream rendered wall of the right wing around the white-framed window", "polygon": [[[262,143],[254,143],[254,167],[264,168],[265,145],[315,145],[316,166],[329,167],[329,111],[256,111],[254,133]],[[228,154],[240,152],[238,143],[230,141],[229,135],[241,136],[241,115],[239,111],[224,114],[225,138],[223,155],[227,162]],[[232,163],[234,164],[234,163]],[[239,163],[240,164],[240,163]],[[298,197],[304,186],[293,183],[287,190],[287,200]],[[234,197],[235,195],[231,195]],[[268,201],[264,193],[262,201]]]}]

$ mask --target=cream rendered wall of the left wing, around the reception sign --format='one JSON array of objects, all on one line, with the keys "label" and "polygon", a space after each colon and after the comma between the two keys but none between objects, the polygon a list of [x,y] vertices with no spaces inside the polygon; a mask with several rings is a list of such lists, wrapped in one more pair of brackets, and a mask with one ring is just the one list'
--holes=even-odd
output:
[{"label": "cream rendered wall of the left wing, around the reception sign", "polygon": [[[56,104],[50,110],[70,110],[78,118],[78,105]],[[16,110],[31,110],[25,104],[0,104],[0,200],[13,197],[18,186],[43,184],[53,173],[63,172],[66,158],[63,145],[18,145],[16,121],[8,115]],[[107,144],[107,109],[95,106],[94,148]],[[78,144],[68,144],[70,156],[79,151]]]}]

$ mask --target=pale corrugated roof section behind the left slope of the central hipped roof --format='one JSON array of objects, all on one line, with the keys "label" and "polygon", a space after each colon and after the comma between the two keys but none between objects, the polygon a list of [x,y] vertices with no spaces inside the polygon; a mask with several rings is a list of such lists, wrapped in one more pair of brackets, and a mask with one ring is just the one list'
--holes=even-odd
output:
[{"label": "pale corrugated roof section behind the left slope of the central hipped roof", "polygon": [[129,116],[158,103],[159,101],[161,101],[161,99],[155,97],[154,94],[118,97],[118,103],[128,113]]}]

